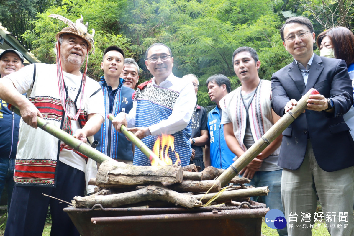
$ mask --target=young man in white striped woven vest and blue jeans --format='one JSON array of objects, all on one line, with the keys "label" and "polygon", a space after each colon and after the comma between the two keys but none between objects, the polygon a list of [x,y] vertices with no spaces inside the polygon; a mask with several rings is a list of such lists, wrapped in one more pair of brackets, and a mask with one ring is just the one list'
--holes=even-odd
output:
[{"label": "young man in white striped woven vest and blue jeans", "polygon": [[[239,47],[233,53],[233,67],[241,86],[221,100],[225,140],[237,157],[261,139],[279,119],[271,106],[272,87],[269,80],[261,80],[258,69],[261,62],[256,50]],[[267,196],[253,197],[263,200],[270,209],[284,213],[281,204],[281,172],[277,165],[281,135],[239,172],[241,177],[252,179],[254,187],[268,186]],[[277,229],[280,236],[287,235],[287,228]]]}]

